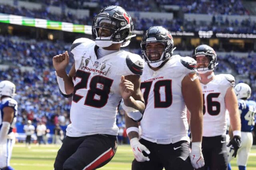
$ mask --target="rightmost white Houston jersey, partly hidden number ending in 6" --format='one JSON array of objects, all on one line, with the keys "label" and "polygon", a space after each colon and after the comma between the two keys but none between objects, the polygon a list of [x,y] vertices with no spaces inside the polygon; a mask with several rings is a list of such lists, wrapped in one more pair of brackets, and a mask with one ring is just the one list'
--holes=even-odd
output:
[{"label": "rightmost white Houston jersey, partly hidden number ending in 6", "polygon": [[208,84],[201,83],[204,97],[204,137],[226,135],[225,95],[228,88],[234,86],[234,81],[230,74],[219,74]]}]

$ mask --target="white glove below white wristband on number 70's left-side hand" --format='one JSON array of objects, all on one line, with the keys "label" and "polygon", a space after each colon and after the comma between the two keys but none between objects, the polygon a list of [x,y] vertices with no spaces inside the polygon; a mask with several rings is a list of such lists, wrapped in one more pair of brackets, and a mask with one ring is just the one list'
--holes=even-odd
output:
[{"label": "white glove below white wristband on number 70's left-side hand", "polygon": [[139,139],[137,137],[130,140],[130,145],[132,147],[134,157],[138,162],[149,161],[149,158],[144,156],[142,151],[145,151],[147,154],[150,154],[150,151],[139,142]]}]

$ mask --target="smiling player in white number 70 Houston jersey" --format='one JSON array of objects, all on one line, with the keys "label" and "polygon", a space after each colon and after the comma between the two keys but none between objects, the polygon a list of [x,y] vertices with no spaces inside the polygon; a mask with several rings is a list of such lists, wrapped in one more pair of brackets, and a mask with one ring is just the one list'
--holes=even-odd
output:
[{"label": "smiling player in white number 70 Houston jersey", "polygon": [[[134,116],[124,107],[128,115],[126,132],[135,157],[132,170],[192,170],[193,166],[204,166],[201,151],[203,103],[196,61],[172,56],[173,45],[171,33],[160,26],[150,27],[142,39],[146,63],[140,88],[146,109],[143,116],[139,116],[140,113]],[[191,160],[187,108],[191,112],[193,137]],[[140,139],[138,124],[132,120],[141,120]]]}]

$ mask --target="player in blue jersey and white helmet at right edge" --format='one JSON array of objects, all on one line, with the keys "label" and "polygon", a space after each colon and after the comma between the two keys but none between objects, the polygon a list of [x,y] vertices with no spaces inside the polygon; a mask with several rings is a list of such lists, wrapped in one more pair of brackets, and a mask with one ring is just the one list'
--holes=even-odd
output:
[{"label": "player in blue jersey and white helmet at right edge", "polygon": [[[237,152],[237,165],[239,170],[246,170],[246,163],[252,148],[252,130],[254,128],[254,120],[256,113],[256,103],[248,100],[251,96],[251,88],[248,84],[239,83],[234,87],[236,97],[238,99],[238,107],[241,117],[241,148]],[[234,149],[228,149],[228,162],[232,160]],[[230,168],[231,170],[231,168]]]}]

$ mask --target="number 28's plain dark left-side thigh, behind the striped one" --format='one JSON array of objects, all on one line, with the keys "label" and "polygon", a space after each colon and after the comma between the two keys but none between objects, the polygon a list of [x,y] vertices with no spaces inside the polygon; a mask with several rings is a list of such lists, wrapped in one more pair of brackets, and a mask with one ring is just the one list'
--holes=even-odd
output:
[{"label": "number 28's plain dark left-side thigh, behind the striped one", "polygon": [[76,152],[80,144],[84,141],[84,138],[85,137],[65,137],[55,158],[54,170],[63,170],[64,162]]}]

